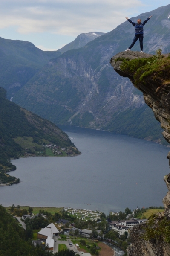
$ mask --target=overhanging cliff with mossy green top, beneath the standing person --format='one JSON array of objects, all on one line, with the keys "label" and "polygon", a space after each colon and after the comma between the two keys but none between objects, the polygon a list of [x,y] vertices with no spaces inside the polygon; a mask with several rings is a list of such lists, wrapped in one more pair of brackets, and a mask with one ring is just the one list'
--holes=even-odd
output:
[{"label": "overhanging cliff with mossy green top, beneath the standing person", "polygon": [[[136,66],[135,67],[135,62]],[[114,70],[123,77],[128,77],[133,85],[144,95],[145,103],[153,110],[161,123],[164,138],[170,143],[170,57],[140,52],[120,52],[110,61]],[[170,152],[167,155],[170,164]],[[165,212],[156,217],[156,221],[170,219],[170,174],[164,176],[169,192],[163,199]],[[146,224],[139,224],[130,229],[132,244],[128,248],[129,256],[169,256],[170,244],[164,239],[145,241],[141,238]],[[163,234],[162,234],[163,236]]]}]

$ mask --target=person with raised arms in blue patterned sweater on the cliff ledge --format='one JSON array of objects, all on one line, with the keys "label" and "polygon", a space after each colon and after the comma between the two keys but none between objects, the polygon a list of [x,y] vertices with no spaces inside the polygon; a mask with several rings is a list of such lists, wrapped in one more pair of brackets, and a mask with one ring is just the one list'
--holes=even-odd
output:
[{"label": "person with raised arms in blue patterned sweater on the cliff ledge", "polygon": [[125,50],[125,52],[130,51],[130,49],[134,46],[135,42],[139,39],[140,47],[141,47],[141,53],[143,53],[143,39],[144,39],[144,25],[147,23],[147,21],[152,17],[152,15],[144,20],[144,22],[141,23],[141,19],[137,20],[137,23],[130,20],[128,17],[125,17],[132,25],[135,27],[135,37],[133,38],[133,42],[130,45],[129,48]]}]

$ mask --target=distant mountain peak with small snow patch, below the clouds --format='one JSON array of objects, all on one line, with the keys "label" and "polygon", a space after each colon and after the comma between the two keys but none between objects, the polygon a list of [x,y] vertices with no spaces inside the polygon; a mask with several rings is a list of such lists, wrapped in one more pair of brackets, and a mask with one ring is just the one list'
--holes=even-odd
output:
[{"label": "distant mountain peak with small snow patch, below the clouds", "polygon": [[64,53],[69,50],[78,49],[89,43],[90,41],[94,40],[95,38],[104,35],[105,33],[102,32],[89,32],[89,33],[82,33],[75,38],[74,41],[65,45],[58,51]]}]

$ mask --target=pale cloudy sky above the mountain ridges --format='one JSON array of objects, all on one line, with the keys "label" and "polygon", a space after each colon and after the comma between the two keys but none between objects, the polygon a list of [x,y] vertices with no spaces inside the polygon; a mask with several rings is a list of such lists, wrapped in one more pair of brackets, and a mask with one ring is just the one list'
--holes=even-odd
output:
[{"label": "pale cloudy sky above the mountain ridges", "polygon": [[81,33],[109,32],[169,0],[0,0],[0,37],[57,50]]}]

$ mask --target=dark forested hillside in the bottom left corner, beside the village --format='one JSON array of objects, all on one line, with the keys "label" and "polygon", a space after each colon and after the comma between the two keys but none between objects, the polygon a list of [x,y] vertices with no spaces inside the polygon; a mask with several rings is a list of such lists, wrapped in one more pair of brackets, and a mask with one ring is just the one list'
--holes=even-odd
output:
[{"label": "dark forested hillside in the bottom left corner, beside the village", "polygon": [[0,256],[75,256],[72,250],[52,253],[48,247],[34,246],[27,230],[0,205]]}]

